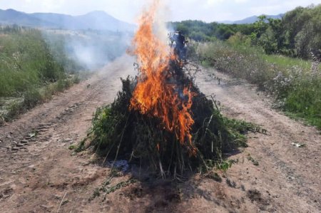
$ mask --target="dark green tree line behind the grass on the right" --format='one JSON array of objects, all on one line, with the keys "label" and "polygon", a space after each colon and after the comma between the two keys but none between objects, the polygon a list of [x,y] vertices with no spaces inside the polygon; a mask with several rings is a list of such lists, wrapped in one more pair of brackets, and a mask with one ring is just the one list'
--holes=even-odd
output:
[{"label": "dark green tree line behind the grass on the right", "polygon": [[170,22],[177,31],[195,41],[234,39],[240,43],[260,46],[265,53],[308,59],[310,51],[321,49],[321,4],[299,6],[282,19],[258,17],[254,24],[218,24],[203,21]]}]

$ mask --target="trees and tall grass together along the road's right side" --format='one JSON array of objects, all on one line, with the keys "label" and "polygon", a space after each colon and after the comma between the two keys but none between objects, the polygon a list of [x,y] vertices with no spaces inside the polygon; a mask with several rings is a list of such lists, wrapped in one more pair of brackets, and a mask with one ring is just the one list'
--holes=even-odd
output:
[{"label": "trees and tall grass together along the road's right side", "polygon": [[[321,5],[254,24],[172,23],[193,43],[204,66],[255,83],[275,106],[321,128]],[[314,53],[314,54],[312,54]]]}]

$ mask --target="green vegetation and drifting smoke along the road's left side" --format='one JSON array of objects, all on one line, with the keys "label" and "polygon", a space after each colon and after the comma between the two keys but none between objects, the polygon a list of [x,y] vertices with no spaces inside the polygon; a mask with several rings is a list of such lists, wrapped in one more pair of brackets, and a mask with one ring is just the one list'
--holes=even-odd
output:
[{"label": "green vegetation and drifting smoke along the road's left side", "polygon": [[0,26],[0,125],[121,56],[121,36],[106,33]]}]

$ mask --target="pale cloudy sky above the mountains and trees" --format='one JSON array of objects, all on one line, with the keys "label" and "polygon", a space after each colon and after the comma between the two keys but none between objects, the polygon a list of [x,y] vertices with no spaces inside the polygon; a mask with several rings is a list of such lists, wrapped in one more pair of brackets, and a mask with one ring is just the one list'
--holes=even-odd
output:
[{"label": "pale cloudy sky above the mountains and trees", "polygon": [[[106,11],[116,19],[136,23],[140,11],[151,0],[0,0],[0,9],[26,13],[51,12],[83,15],[90,11]],[[237,21],[249,16],[277,15],[297,6],[321,4],[321,0],[160,0],[165,21],[202,20]]]}]

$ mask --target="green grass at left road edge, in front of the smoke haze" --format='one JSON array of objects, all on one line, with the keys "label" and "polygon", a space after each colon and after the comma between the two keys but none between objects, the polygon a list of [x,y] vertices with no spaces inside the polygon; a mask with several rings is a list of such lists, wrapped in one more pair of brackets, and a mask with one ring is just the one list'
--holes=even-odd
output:
[{"label": "green grass at left road edge, in front of the smoke haze", "polygon": [[2,122],[16,118],[80,81],[75,70],[79,68],[77,62],[68,58],[63,48],[58,51],[59,45],[58,41],[49,45],[37,29],[0,26]]}]

